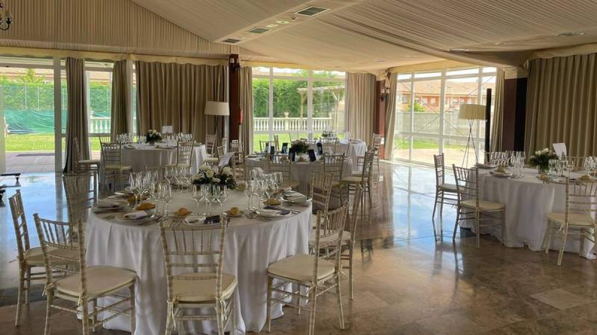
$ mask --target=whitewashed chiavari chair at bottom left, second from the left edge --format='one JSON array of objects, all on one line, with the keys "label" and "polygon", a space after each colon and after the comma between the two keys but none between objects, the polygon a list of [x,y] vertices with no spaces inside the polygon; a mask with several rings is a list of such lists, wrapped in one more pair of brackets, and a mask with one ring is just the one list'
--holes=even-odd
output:
[{"label": "whitewashed chiavari chair at bottom left, second from the left edge", "polygon": [[[44,335],[50,335],[53,309],[80,316],[83,334],[89,334],[90,330],[95,331],[96,327],[119,317],[119,315],[128,314],[131,317],[131,333],[134,334],[137,274],[134,271],[115,266],[87,266],[85,231],[81,219],[76,222],[51,221],[39,218],[37,213],[33,215],[33,218],[35,218],[46,274],[44,292],[47,296],[47,307]],[[73,231],[78,232],[78,238],[73,238]],[[76,266],[62,268],[61,265],[64,262],[75,263]],[[54,277],[54,271],[63,271],[70,275],[57,278]],[[124,289],[128,289],[129,296],[119,295],[119,292]],[[102,297],[112,297],[118,300],[110,303],[109,306],[97,306],[97,299]],[[70,308],[63,303],[56,303],[55,299],[57,298],[74,303],[75,306]],[[111,315],[99,320],[98,316],[105,312],[110,312]]]}]

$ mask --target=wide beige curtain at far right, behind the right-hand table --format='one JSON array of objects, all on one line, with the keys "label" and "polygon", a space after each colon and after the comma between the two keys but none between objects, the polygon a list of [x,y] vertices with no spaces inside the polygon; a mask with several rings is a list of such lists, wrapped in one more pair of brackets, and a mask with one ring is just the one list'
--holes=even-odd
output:
[{"label": "wide beige curtain at far right, behind the right-hand table", "polygon": [[529,63],[525,150],[567,144],[571,156],[597,154],[597,54]]}]

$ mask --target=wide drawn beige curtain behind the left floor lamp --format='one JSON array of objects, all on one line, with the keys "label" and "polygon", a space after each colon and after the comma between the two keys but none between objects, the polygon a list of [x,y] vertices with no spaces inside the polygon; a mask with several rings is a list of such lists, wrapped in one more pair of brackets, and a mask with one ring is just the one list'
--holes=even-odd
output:
[{"label": "wide drawn beige curtain behind the left floor lamp", "polygon": [[227,101],[226,66],[144,61],[135,66],[140,134],[171,125],[174,132],[190,133],[202,141],[206,123],[214,129],[214,117],[204,115],[205,101]]}]

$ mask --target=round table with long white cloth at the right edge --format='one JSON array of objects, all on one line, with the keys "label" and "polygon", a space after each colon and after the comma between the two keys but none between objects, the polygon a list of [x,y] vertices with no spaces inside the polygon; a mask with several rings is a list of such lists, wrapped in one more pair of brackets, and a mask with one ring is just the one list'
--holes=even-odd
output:
[{"label": "round table with long white cloth at the right edge", "polygon": [[[566,186],[556,182],[543,184],[537,178],[537,169],[525,168],[523,178],[498,178],[488,169],[479,169],[479,196],[483,200],[506,205],[507,247],[528,246],[533,251],[543,250],[543,237],[547,231],[547,214],[565,211]],[[578,178],[583,173],[571,173]],[[473,228],[471,221],[463,222],[463,227]],[[485,227],[491,235],[501,240],[500,227]],[[552,238],[550,249],[559,250],[561,240]],[[585,240],[581,255],[593,259],[593,243]],[[565,250],[578,253],[579,241],[570,238]]]}]

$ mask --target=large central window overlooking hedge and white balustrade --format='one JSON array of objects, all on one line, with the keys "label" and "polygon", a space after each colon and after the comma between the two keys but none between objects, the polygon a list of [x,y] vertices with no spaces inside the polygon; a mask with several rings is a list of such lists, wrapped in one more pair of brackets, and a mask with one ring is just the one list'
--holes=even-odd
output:
[{"label": "large central window overlooking hedge and white balustrade", "polygon": [[345,73],[253,67],[253,138],[319,137],[322,131],[344,132]]}]

